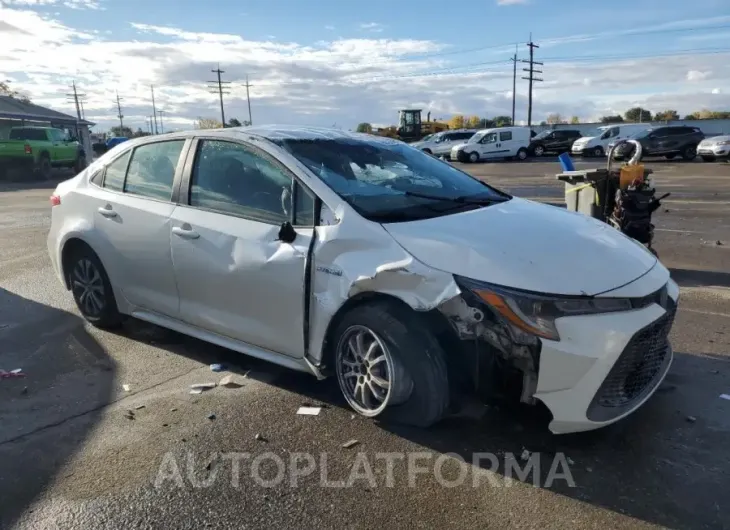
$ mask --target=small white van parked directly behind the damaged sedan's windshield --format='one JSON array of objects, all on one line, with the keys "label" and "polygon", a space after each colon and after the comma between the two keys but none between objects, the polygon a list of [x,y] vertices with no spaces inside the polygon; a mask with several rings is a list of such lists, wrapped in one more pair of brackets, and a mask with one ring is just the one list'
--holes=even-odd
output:
[{"label": "small white van parked directly behind the damaged sedan's windshield", "polygon": [[451,148],[451,160],[478,162],[496,158],[527,158],[532,131],[527,127],[483,129],[463,144]]}]

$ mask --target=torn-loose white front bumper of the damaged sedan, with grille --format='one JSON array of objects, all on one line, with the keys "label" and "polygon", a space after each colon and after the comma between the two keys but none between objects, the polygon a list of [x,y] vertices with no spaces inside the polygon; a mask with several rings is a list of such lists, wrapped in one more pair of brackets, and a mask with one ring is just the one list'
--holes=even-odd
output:
[{"label": "torn-loose white front bumper of the damaged sedan, with grille", "polygon": [[651,397],[672,362],[678,298],[669,280],[631,310],[557,318],[558,340],[530,335],[469,289],[439,310],[460,339],[482,342],[488,356],[521,372],[521,400],[543,402],[549,429],[564,434],[614,423]]}]

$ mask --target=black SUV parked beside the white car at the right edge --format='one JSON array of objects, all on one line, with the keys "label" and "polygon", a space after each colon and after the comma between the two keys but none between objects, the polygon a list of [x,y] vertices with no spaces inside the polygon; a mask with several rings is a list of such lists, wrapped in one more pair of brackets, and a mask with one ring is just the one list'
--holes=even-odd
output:
[{"label": "black SUV parked beside the white car at the right edge", "polygon": [[[697,127],[676,125],[652,127],[631,137],[641,144],[641,156],[664,156],[672,159],[681,156],[685,160],[694,160],[697,146],[705,138]],[[614,151],[616,159],[631,158],[635,147],[632,144],[619,145]]]}]

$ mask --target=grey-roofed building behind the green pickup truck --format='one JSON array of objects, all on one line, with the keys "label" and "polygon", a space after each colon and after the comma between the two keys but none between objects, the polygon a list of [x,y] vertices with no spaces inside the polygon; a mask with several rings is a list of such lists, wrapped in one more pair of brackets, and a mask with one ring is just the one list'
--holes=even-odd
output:
[{"label": "grey-roofed building behind the green pickup truck", "polygon": [[89,160],[91,159],[91,138],[89,127],[94,123],[79,120],[68,114],[63,114],[34,103],[25,103],[10,96],[0,96],[0,140],[6,140],[13,127],[33,125],[40,127],[55,127],[63,129],[79,139],[84,146]]}]

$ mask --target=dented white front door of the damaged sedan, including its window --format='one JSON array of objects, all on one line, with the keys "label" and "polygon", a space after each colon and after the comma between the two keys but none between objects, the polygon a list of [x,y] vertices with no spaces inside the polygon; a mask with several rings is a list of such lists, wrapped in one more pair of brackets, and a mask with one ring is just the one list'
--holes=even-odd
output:
[{"label": "dented white front door of the damaged sedan, including its window", "polygon": [[[248,143],[203,137],[192,149],[170,236],[181,319],[302,357],[313,195]],[[287,222],[296,231],[291,243],[279,237]]]}]

